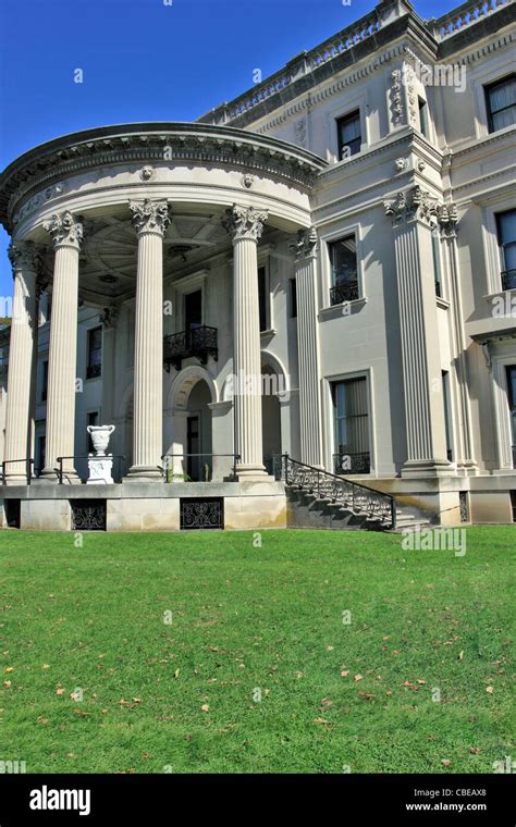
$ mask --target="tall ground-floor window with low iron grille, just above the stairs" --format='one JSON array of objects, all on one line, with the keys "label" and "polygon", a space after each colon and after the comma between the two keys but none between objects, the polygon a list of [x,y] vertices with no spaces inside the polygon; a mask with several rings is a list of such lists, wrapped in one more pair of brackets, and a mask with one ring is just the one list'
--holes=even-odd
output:
[{"label": "tall ground-floor window with low iron grille, just above the stairs", "polygon": [[367,379],[333,382],[333,422],[335,429],[334,468],[336,473],[369,473],[369,414]]}]

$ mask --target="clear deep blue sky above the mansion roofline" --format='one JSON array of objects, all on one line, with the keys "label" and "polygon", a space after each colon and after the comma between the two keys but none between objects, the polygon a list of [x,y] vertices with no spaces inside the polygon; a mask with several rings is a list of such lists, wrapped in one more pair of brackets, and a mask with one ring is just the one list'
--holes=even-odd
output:
[{"label": "clear deep blue sky above the mansion roofline", "polygon": [[[416,0],[422,17],[452,0]],[[1,0],[0,168],[76,129],[192,121],[303,49],[358,20],[373,0]],[[83,83],[74,83],[74,70]],[[0,230],[0,294],[12,292]]]}]

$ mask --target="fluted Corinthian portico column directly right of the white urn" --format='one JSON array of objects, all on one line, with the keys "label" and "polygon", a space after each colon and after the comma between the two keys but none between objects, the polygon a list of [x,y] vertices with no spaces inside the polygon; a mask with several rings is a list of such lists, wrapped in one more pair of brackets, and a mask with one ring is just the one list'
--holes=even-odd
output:
[{"label": "fluted Corinthian portico column directly right of the white urn", "polygon": [[133,465],[128,481],[160,480],[163,441],[163,235],[167,201],[132,201],[138,236]]}]

